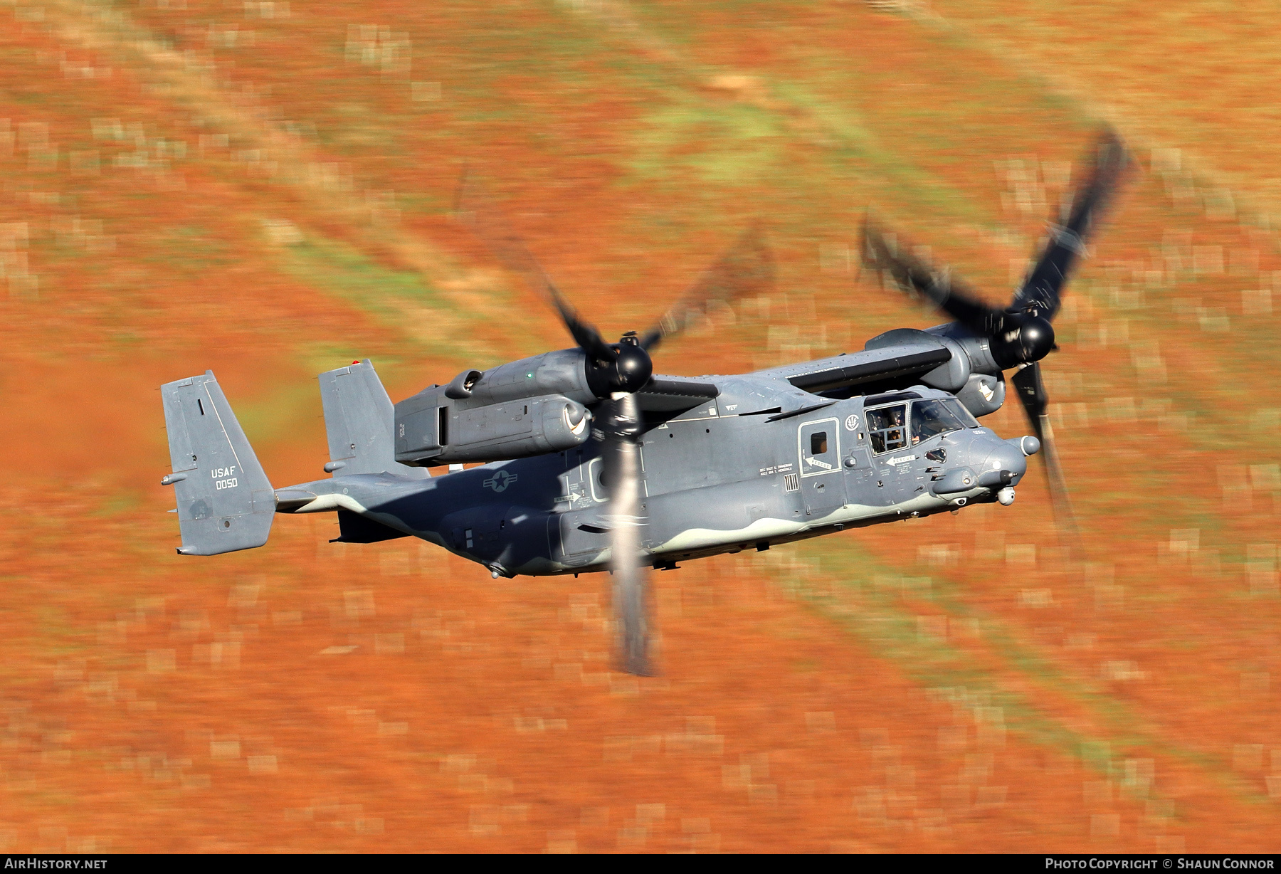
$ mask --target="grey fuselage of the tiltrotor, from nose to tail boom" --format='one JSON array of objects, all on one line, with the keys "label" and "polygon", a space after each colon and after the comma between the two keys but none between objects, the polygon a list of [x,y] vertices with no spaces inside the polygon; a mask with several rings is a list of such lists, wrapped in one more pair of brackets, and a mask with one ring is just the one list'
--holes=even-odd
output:
[{"label": "grey fuselage of the tiltrotor, from nose to tail boom", "polygon": [[[642,543],[660,568],[994,501],[1027,469],[1027,443],[1002,440],[945,391],[833,400],[760,374],[701,379],[720,395],[651,422],[642,441]],[[494,574],[582,573],[610,560],[601,473],[600,443],[588,441],[429,479],[346,475],[281,496],[315,496],[297,513],[359,514],[339,514],[342,540],[409,534]]]}]

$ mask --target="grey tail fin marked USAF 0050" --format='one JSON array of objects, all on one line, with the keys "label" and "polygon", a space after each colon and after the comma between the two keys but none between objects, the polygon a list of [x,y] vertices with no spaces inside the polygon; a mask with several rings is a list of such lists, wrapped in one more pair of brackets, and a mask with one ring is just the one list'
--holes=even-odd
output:
[{"label": "grey tail fin marked USAF 0050", "polygon": [[181,555],[263,546],[275,491],[257,463],[213,370],[160,387],[173,473],[161,483],[178,499]]}]

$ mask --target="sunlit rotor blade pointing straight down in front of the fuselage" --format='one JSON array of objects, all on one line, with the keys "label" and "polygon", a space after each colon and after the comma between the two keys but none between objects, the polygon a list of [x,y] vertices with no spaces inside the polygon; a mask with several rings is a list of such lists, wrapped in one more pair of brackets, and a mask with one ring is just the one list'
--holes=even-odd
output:
[{"label": "sunlit rotor blade pointing straight down in front of the fuselage", "polygon": [[610,566],[614,611],[619,620],[619,668],[651,677],[649,564],[642,547],[648,516],[640,484],[640,408],[635,395],[620,395],[605,422],[605,486],[610,491]]}]

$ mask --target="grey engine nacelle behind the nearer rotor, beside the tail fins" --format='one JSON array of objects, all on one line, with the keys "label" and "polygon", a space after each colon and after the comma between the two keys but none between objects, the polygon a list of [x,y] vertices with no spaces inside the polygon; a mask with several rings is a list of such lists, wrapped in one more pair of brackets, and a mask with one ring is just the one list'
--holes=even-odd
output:
[{"label": "grey engine nacelle behind the nearer rotor, beside the tail fins", "polygon": [[597,400],[583,365],[583,352],[566,349],[424,388],[396,405],[396,460],[503,461],[582,445]]}]

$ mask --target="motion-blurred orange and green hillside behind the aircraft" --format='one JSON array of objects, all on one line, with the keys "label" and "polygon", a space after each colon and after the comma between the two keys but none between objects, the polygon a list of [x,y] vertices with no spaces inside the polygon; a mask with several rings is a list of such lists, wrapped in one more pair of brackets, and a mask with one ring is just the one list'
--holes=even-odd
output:
[{"label": "motion-blurred orange and green hillside behind the aircraft", "polygon": [[[1267,15],[0,3],[0,851],[1276,850]],[[1003,300],[1103,122],[1135,172],[1045,361],[1077,548],[1032,459],[1012,507],[655,574],[639,680],[601,574],[332,518],[173,551],[160,383],[211,368],[281,487],[320,370],[569,345],[465,168],[607,336],[760,222],[776,288],[656,359],[735,373],[942,320],[860,274],[869,206]]]}]

